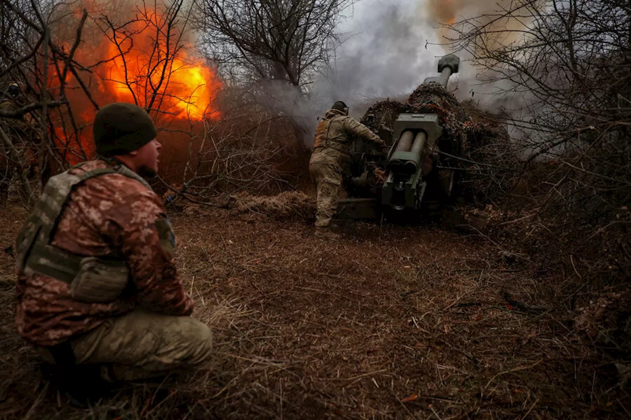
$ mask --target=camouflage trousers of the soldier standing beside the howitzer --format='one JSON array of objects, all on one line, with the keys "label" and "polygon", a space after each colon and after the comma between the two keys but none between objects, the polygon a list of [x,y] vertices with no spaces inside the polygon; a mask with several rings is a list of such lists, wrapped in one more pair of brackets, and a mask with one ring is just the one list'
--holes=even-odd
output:
[{"label": "camouflage trousers of the soldier standing beside the howitzer", "polygon": [[331,163],[310,163],[309,172],[317,189],[317,214],[315,226],[326,227],[338,209],[339,190],[342,185],[342,169]]}]

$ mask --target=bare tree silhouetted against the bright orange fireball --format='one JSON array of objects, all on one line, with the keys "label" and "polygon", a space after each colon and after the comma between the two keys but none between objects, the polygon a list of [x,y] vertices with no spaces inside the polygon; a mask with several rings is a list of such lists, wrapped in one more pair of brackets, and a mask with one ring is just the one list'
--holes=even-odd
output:
[{"label": "bare tree silhouetted against the bright orange fireball", "polygon": [[[182,108],[191,110],[198,106],[195,93],[184,95],[182,92],[187,89],[182,89],[182,80],[175,78],[176,73],[181,74],[187,67],[197,65],[187,58],[185,52],[185,33],[191,9],[183,5],[183,0],[175,0],[158,13],[157,4],[141,3],[131,11],[133,17],[124,16],[122,23],[107,13],[97,19],[97,25],[109,45],[114,46],[115,54],[108,57],[107,62],[97,62],[90,67],[103,67],[103,64],[110,68],[119,67],[115,76],[111,71],[101,72],[102,80],[114,86],[118,95],[126,96],[129,102],[146,108],[158,117],[179,114]],[[151,35],[137,36],[142,33]],[[139,39],[145,42],[135,44]],[[150,45],[146,45],[147,40]],[[198,83],[201,86],[211,81]],[[195,114],[208,117],[212,111],[204,108],[196,110]]]}]

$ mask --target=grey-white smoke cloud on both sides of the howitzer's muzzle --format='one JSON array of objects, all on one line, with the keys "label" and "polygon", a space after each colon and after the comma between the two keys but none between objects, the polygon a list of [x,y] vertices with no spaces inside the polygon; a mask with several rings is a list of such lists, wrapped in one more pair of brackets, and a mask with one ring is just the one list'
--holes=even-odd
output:
[{"label": "grey-white smoke cloud on both sides of the howitzer's muzzle", "polygon": [[[510,3],[512,0],[363,0],[342,28],[349,38],[339,47],[331,71],[314,86],[317,99],[345,100],[358,117],[375,100],[405,98],[423,79],[434,76],[439,57],[451,52],[445,43],[454,33],[442,25],[498,15]],[[491,49],[516,42],[524,21],[498,20],[492,28],[504,32],[488,40]],[[511,102],[494,95],[497,86],[485,83],[468,54],[456,54],[461,69],[452,77],[450,89],[457,98],[473,97],[482,108],[494,111]]]}]

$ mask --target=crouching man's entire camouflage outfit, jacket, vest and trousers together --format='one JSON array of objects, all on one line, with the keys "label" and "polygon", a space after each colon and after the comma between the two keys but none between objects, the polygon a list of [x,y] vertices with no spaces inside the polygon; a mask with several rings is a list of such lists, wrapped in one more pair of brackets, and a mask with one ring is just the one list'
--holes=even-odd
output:
[{"label": "crouching man's entire camouflage outfit, jacket, vest and trousers together", "polygon": [[[55,194],[63,193],[54,183],[60,175],[51,178],[33,213],[37,217],[27,219],[18,237],[18,332],[45,357],[62,346],[74,363],[110,366],[117,379],[198,366],[209,357],[211,331],[188,317],[194,302],[177,276],[174,236],[160,198],[113,161],[88,161],[61,175],[93,171],[101,173],[71,187],[67,200],[61,197],[66,202],[48,244],[28,245],[29,229],[54,217],[38,208],[59,200]],[[88,266],[86,278],[93,283],[80,295],[73,264],[90,257],[106,264],[105,272]],[[108,283],[107,276],[121,270],[122,286]]]}]

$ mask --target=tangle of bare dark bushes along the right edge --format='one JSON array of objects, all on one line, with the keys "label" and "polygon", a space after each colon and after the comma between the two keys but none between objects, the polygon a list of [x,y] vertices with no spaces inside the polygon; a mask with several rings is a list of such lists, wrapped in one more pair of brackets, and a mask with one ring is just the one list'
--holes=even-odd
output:
[{"label": "tangle of bare dark bushes along the right edge", "polygon": [[620,371],[631,362],[630,14],[619,0],[514,1],[449,26],[505,105],[522,160],[489,236],[592,292],[575,298],[577,325]]}]

